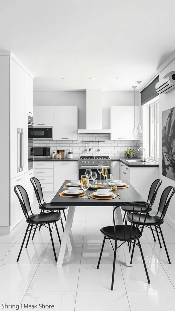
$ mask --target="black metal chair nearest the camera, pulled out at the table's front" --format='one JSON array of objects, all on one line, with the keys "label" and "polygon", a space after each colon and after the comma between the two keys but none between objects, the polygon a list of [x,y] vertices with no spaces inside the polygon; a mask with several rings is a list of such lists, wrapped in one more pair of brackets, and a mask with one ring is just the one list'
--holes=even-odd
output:
[{"label": "black metal chair nearest the camera, pulled out at the table's front", "polygon": [[[115,240],[115,248],[113,248],[113,245],[111,243],[112,248],[114,250],[114,261],[113,261],[113,270],[112,270],[111,290],[113,290],[113,285],[114,285],[114,274],[115,274],[115,264],[116,264],[117,248],[119,248],[122,244],[124,244],[125,242],[128,242],[128,241],[131,242],[131,243],[134,243],[134,245],[135,245],[136,244],[136,240],[137,240],[137,242],[138,242],[137,245],[140,248],[140,253],[141,253],[141,256],[142,256],[143,263],[144,263],[144,269],[145,269],[145,272],[146,272],[148,283],[150,283],[148,271],[147,271],[146,264],[145,264],[145,261],[144,261],[144,255],[143,255],[142,248],[141,248],[140,241],[139,241],[140,237],[142,236],[143,229],[144,229],[144,223],[143,223],[143,226],[142,226],[141,229],[139,229],[139,224],[138,225],[134,225],[134,223],[132,222],[132,219],[131,219],[131,225],[127,225],[126,223],[125,223],[125,225],[115,225],[115,211],[116,211],[116,208],[120,208],[120,207],[122,207],[124,205],[126,207],[127,206],[130,206],[130,207],[132,206],[132,214],[130,214],[130,215],[135,215],[134,211],[136,209],[137,210],[137,216],[139,217],[139,219],[142,217],[142,211],[144,210],[144,213],[145,213],[144,214],[144,217],[145,217],[144,223],[146,221],[146,217],[147,217],[148,212],[149,212],[149,203],[147,203],[147,202],[131,202],[129,204],[123,203],[123,204],[117,205],[114,208],[114,210],[113,210],[113,226],[103,227],[100,230],[102,232],[102,234],[104,234],[104,239],[103,239],[103,244],[102,244],[102,249],[101,249],[101,252],[100,252],[100,257],[99,257],[97,269],[99,268],[99,265],[100,265],[100,261],[101,261],[101,258],[102,258],[102,253],[103,253],[103,248],[104,248],[104,244],[105,244],[106,238],[110,239],[110,242],[111,242],[111,239]],[[140,207],[140,211],[138,211],[138,207]],[[120,246],[117,247],[117,241],[123,241],[123,243]],[[133,253],[131,255],[131,263],[132,263],[132,258],[133,258]]]}]

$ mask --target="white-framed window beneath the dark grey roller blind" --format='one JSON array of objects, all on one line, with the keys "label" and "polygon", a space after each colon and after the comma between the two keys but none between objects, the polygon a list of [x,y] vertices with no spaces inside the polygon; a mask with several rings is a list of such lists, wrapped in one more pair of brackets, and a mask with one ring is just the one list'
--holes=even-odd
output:
[{"label": "white-framed window beneath the dark grey roller blind", "polygon": [[158,160],[158,101],[154,101],[149,106],[149,158]]}]

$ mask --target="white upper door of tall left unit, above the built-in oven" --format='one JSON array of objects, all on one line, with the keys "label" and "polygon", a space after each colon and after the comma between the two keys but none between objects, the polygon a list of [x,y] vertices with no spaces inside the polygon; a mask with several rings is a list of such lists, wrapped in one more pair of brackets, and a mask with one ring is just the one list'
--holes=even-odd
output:
[{"label": "white upper door of tall left unit, above the built-in oven", "polygon": [[25,114],[33,116],[33,78],[25,72]]}]

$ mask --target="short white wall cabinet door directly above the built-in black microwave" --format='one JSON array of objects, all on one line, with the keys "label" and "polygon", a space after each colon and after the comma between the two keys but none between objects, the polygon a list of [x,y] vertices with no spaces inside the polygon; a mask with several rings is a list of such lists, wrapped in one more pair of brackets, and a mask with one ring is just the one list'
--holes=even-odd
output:
[{"label": "short white wall cabinet door directly above the built-in black microwave", "polygon": [[34,125],[53,126],[53,106],[34,106]]}]

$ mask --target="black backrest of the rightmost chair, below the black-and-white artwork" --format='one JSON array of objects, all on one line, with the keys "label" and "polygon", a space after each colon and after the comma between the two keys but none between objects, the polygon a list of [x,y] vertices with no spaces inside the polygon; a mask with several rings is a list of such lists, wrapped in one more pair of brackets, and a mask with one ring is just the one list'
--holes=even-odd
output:
[{"label": "black backrest of the rightmost chair, below the black-and-white artwork", "polygon": [[157,212],[157,215],[158,213],[161,213],[160,220],[162,220],[165,217],[170,200],[173,197],[174,193],[175,193],[175,188],[173,186],[168,186],[167,188],[163,190],[163,193],[160,198],[159,206],[158,206],[158,212]]}]

